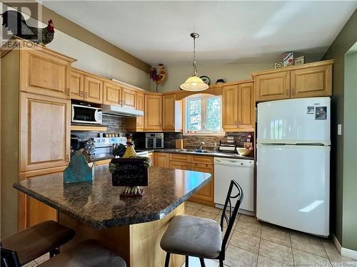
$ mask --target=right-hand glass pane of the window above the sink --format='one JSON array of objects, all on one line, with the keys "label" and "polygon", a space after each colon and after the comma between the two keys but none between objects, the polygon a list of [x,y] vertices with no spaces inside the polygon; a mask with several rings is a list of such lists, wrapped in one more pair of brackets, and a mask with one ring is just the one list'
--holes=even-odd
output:
[{"label": "right-hand glass pane of the window above the sink", "polygon": [[206,131],[221,130],[221,98],[207,98]]}]

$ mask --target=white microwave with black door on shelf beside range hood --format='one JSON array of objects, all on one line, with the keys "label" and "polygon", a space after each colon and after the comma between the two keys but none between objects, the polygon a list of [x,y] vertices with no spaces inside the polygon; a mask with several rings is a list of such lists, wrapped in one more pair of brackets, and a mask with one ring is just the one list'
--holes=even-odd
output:
[{"label": "white microwave with black door on shelf beside range hood", "polygon": [[101,108],[72,104],[71,122],[101,124]]}]

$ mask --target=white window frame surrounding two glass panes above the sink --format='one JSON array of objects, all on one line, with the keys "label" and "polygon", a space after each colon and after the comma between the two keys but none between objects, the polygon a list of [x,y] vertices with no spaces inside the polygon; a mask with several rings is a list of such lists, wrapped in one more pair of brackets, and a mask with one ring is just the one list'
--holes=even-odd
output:
[{"label": "white window frame surrounding two glass panes above the sink", "polygon": [[[195,98],[201,98],[201,131],[199,132],[188,132],[187,127],[188,122],[188,101]],[[219,131],[207,131],[206,130],[206,111],[207,111],[207,100],[208,98],[219,98],[221,102],[221,112],[220,112],[220,121],[221,128]],[[223,107],[222,107],[222,95],[210,95],[210,94],[195,94],[190,95],[184,99],[183,103],[183,135],[214,135],[214,136],[223,136],[225,132],[223,131]]]}]

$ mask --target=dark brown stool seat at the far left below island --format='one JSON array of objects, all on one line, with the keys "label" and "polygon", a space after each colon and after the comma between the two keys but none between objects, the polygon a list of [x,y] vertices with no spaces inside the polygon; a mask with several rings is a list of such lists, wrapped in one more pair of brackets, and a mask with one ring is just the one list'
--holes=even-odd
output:
[{"label": "dark brown stool seat at the far left below island", "polygon": [[73,239],[76,232],[56,221],[44,221],[1,240],[4,248],[17,251],[21,265]]}]

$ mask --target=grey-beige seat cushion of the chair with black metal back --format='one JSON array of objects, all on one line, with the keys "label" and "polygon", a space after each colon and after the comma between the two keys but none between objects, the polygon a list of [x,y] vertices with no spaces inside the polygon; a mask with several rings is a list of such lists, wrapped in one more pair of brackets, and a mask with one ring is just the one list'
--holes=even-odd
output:
[{"label": "grey-beige seat cushion of the chair with black metal back", "polygon": [[161,239],[161,248],[174,254],[217,258],[221,252],[221,226],[211,219],[175,216]]}]

